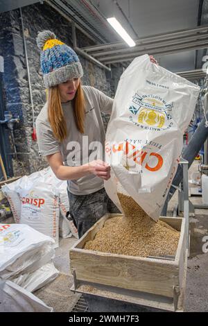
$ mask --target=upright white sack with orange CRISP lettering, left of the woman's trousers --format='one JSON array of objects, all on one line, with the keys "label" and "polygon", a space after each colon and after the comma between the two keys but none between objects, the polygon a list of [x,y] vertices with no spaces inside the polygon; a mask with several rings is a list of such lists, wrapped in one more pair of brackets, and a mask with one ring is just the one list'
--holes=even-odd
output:
[{"label": "upright white sack with orange CRISP lettering, left of the woman's trousers", "polygon": [[30,225],[46,234],[55,240],[55,247],[58,247],[59,234],[78,239],[73,222],[66,217],[69,211],[67,181],[56,178],[50,167],[25,175],[1,190],[10,203],[15,223]]}]

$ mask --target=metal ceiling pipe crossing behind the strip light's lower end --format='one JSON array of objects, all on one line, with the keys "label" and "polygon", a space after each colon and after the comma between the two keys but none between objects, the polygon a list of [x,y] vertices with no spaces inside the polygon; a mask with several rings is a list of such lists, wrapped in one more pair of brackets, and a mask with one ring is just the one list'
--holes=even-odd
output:
[{"label": "metal ceiling pipe crossing behind the strip light's lower end", "polygon": [[[208,31],[208,26],[203,26],[203,27],[198,27],[198,28],[193,28],[193,29],[187,29],[187,30],[182,30],[182,31],[173,31],[171,33],[167,34],[155,34],[151,35],[149,37],[144,37],[139,40],[135,40],[136,45],[139,44],[140,42],[156,42],[156,41],[161,41],[161,40],[171,40],[171,38],[175,39],[178,37],[185,37],[189,34],[198,34],[199,33],[206,33]],[[101,45],[94,45],[94,46],[85,46],[82,48],[82,50],[86,52],[91,52],[91,51],[99,51],[103,49],[108,49],[108,48],[116,48],[116,47],[122,47],[126,46],[125,42],[114,42],[114,43],[108,43],[108,44],[101,44]]]}]

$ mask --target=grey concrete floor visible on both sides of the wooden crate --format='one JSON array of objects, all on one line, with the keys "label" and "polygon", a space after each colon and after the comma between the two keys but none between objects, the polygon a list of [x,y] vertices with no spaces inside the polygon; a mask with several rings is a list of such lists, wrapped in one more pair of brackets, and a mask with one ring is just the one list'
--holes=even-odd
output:
[{"label": "grey concrete floor visible on both sides of the wooden crate", "polygon": [[[193,171],[198,171],[198,162],[191,166],[189,179]],[[189,199],[193,204],[202,203],[201,196],[191,196]],[[168,205],[169,216],[172,216],[175,203],[176,193]],[[185,311],[208,311],[208,252],[202,252],[202,246],[205,244],[202,239],[205,235],[208,236],[208,209],[196,209],[195,212],[196,216],[190,217],[191,248],[187,268]],[[55,266],[61,275],[34,293],[53,307],[54,311],[71,311],[79,298],[78,294],[69,290],[73,282],[69,269],[69,249],[76,241],[74,237],[60,239],[60,247],[55,250]]]}]

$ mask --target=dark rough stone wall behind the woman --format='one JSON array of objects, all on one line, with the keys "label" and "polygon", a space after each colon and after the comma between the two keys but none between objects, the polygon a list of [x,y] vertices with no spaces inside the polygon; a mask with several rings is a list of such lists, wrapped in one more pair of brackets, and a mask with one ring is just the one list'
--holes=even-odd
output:
[{"label": "dark rough stone wall behind the woman", "polygon": [[[60,40],[73,46],[71,24],[47,3],[36,3],[22,8],[24,35],[28,53],[35,117],[46,101],[46,92],[40,71],[40,51],[35,37],[38,31],[52,30]],[[76,31],[78,46],[94,45],[83,33]],[[33,114],[28,87],[28,75],[24,54],[24,42],[19,9],[0,14],[0,55],[4,58],[3,85],[6,92],[6,110],[19,116],[14,136],[17,157],[12,156],[14,175],[33,173],[47,166],[38,155],[37,141],[33,141]],[[112,73],[101,69],[79,55],[83,65],[83,85],[92,85],[105,94],[114,96],[115,78]],[[116,76],[116,74],[115,74]],[[107,118],[103,116],[105,126]],[[11,139],[12,142],[12,139]],[[12,144],[11,144],[12,145]]]}]

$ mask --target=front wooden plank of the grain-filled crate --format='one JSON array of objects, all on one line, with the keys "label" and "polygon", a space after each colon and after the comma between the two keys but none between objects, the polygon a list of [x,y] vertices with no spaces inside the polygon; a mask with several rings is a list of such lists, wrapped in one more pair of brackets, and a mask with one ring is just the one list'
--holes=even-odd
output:
[{"label": "front wooden plank of the grain-filled crate", "polygon": [[77,280],[173,297],[179,284],[174,261],[111,255],[89,250],[70,250],[71,271]]}]

